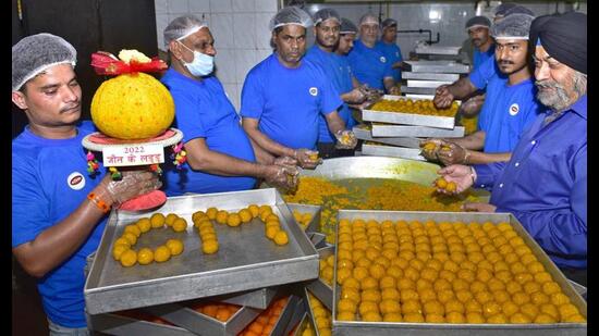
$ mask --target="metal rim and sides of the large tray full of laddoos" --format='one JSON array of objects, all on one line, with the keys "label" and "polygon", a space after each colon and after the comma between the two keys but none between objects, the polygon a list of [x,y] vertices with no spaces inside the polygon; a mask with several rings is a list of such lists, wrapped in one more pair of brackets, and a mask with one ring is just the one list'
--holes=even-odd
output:
[{"label": "metal rim and sides of the large tray full of laddoos", "polygon": [[[524,229],[518,220],[511,213],[476,213],[476,212],[419,212],[419,211],[359,211],[359,210],[340,210],[338,220],[347,219],[377,220],[405,220],[405,221],[427,221],[436,222],[461,221],[469,223],[473,221],[482,223],[490,221],[492,223],[510,223],[514,231],[524,239],[526,245],[533,250],[533,253],[541,262],[547,272],[553,279],[560,284],[562,290],[570,297],[572,303],[576,306],[580,313],[587,318],[587,303],[572,287],[563,273],[549,259],[547,253]],[[339,232],[337,233],[339,235]],[[337,276],[337,260],[335,272]],[[337,278],[335,278],[337,283]],[[349,322],[337,321],[337,301],[339,299],[339,286],[333,288],[333,331],[335,335],[522,335],[522,336],[547,336],[547,335],[586,335],[586,323],[555,323],[555,324],[441,324],[441,323],[374,323],[374,322]]]}]

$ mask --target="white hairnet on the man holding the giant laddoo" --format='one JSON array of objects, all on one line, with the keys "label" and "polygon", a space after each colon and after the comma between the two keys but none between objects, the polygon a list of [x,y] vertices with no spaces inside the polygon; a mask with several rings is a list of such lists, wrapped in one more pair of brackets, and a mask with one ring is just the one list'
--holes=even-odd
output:
[{"label": "white hairnet on the man holding the giant laddoo", "polygon": [[27,80],[46,69],[77,63],[77,51],[62,37],[41,33],[27,36],[12,46],[12,89],[19,90]]}]

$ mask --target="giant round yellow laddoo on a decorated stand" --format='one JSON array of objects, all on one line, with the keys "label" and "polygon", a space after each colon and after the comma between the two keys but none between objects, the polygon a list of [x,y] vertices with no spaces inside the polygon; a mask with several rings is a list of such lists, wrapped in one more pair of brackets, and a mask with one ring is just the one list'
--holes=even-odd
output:
[{"label": "giant round yellow laddoo on a decorated stand", "polygon": [[162,134],[174,120],[174,102],[159,80],[144,73],[103,82],[91,100],[91,120],[118,139],[146,139]]}]

